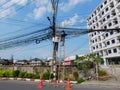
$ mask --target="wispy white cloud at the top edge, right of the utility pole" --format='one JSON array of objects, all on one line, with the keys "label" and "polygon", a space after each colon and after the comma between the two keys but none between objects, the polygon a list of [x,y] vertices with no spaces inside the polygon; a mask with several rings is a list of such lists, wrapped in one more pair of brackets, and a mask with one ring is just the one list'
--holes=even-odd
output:
[{"label": "wispy white cloud at the top edge, right of the utility pole", "polygon": [[69,0],[68,2],[60,3],[60,9],[62,11],[69,11],[74,6],[76,6],[80,3],[89,2],[89,1],[92,1],[92,0]]}]

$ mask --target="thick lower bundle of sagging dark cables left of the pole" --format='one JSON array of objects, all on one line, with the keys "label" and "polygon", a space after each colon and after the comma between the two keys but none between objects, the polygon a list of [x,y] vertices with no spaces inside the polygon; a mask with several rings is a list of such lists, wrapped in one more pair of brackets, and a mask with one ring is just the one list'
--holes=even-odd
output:
[{"label": "thick lower bundle of sagging dark cables left of the pole", "polygon": [[0,50],[13,48],[13,47],[15,48],[18,46],[24,46],[24,45],[31,44],[32,42],[35,43],[35,40],[39,40],[39,42],[42,42],[47,39],[50,39],[51,37],[52,37],[52,35],[49,35],[49,33],[47,33],[47,34],[43,34],[43,35],[28,37],[28,38],[21,39],[21,40],[4,42],[4,43],[0,44]]}]

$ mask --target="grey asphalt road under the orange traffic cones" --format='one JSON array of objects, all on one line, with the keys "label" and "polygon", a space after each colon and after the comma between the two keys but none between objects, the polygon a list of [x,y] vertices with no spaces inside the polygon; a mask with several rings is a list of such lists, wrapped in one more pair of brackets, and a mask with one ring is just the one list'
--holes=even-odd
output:
[{"label": "grey asphalt road under the orange traffic cones", "polygon": [[[38,88],[39,82],[27,82],[27,81],[0,81],[0,90],[40,90]],[[64,86],[44,85],[41,90],[65,90]],[[120,90],[115,87],[100,87],[100,86],[81,86],[73,85],[72,90]]]}]

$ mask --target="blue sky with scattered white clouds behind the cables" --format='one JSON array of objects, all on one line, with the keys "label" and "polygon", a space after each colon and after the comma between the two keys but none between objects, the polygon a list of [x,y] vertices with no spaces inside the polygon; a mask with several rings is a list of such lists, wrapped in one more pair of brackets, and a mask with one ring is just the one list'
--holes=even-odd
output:
[{"label": "blue sky with scattered white clouds behind the cables", "polygon": [[[87,28],[88,15],[102,0],[59,0],[56,24],[64,27]],[[0,0],[0,40],[49,27],[52,18],[51,0]],[[39,44],[0,50],[0,57],[15,60],[52,56],[52,40]],[[65,56],[89,53],[88,35],[67,39]]]}]

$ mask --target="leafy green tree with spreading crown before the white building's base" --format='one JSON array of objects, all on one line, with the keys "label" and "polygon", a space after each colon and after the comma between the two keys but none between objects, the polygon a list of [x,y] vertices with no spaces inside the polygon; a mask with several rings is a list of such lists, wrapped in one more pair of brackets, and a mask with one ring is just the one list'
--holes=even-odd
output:
[{"label": "leafy green tree with spreading crown before the white building's base", "polygon": [[99,65],[104,63],[103,58],[101,56],[96,55],[95,53],[91,53],[85,56],[76,55],[75,64],[78,69],[81,70],[85,76],[89,76],[88,70],[93,68],[95,65],[96,75],[98,77]]}]

